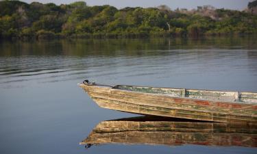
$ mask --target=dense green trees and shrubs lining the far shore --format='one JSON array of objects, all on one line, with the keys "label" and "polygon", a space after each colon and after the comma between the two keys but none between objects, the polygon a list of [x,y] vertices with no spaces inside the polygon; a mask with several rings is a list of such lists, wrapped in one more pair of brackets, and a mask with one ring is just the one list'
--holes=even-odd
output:
[{"label": "dense green trees and shrubs lining the far shore", "polygon": [[[248,7],[256,6],[256,1]],[[139,38],[256,34],[251,12],[198,7],[197,10],[88,6],[0,1],[0,38]]]}]

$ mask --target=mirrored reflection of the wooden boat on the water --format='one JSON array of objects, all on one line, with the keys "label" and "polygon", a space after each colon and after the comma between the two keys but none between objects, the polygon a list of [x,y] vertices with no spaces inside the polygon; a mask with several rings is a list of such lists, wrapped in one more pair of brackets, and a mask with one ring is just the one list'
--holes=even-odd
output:
[{"label": "mirrored reflection of the wooden boat on the water", "polygon": [[204,123],[156,116],[106,120],[80,144],[257,146],[257,124]]}]

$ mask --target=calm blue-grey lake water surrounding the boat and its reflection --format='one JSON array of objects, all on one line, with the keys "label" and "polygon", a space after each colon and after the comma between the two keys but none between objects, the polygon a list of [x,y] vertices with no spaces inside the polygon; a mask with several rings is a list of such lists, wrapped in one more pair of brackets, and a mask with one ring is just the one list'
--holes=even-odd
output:
[{"label": "calm blue-grey lake water surrounding the boat and its reflection", "polygon": [[256,38],[2,41],[0,153],[256,153],[197,144],[85,149],[79,142],[101,121],[138,115],[98,107],[77,86],[84,79],[257,92]]}]

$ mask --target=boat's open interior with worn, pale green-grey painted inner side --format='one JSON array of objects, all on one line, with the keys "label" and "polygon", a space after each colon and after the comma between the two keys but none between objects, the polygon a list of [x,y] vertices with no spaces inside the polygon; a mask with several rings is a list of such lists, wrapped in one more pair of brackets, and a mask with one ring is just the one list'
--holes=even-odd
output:
[{"label": "boat's open interior with worn, pale green-grey painted inner side", "polygon": [[171,97],[186,97],[191,99],[203,99],[209,101],[225,101],[232,103],[257,104],[256,92],[229,92],[215,90],[193,90],[184,88],[157,88],[144,86],[117,85],[113,89],[128,90],[132,92],[147,92],[152,94],[167,94]]}]

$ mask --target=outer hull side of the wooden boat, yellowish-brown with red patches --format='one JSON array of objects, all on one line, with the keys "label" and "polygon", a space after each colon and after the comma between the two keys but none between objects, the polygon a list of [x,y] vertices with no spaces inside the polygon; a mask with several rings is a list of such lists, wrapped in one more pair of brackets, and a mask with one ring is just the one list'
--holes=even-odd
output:
[{"label": "outer hull side of the wooden boat, yellowish-brown with red patches", "polygon": [[253,104],[170,97],[85,84],[80,86],[99,107],[111,110],[223,123],[257,123],[257,105]]}]

